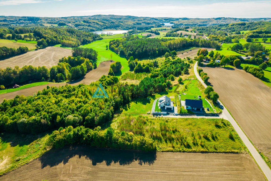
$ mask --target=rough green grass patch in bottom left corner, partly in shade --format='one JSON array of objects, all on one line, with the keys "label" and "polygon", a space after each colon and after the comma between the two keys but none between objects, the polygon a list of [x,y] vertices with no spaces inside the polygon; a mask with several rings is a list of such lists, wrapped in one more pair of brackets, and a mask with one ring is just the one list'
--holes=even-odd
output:
[{"label": "rough green grass patch in bottom left corner, partly in shade", "polygon": [[[16,169],[46,152],[47,134],[21,136],[2,134],[0,138],[0,175]],[[11,144],[11,142],[13,142]]]}]

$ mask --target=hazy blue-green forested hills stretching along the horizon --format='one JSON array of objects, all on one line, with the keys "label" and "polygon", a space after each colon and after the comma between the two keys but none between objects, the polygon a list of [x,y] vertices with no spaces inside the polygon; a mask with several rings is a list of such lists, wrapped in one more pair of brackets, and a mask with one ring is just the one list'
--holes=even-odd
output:
[{"label": "hazy blue-green forested hills stretching along the horizon", "polygon": [[211,26],[237,22],[271,21],[271,18],[152,18],[119,15],[93,15],[72,17],[18,17],[0,16],[0,26],[64,26],[79,30],[99,31],[104,29],[137,29],[146,30],[152,27],[161,27],[161,23],[181,26]]}]

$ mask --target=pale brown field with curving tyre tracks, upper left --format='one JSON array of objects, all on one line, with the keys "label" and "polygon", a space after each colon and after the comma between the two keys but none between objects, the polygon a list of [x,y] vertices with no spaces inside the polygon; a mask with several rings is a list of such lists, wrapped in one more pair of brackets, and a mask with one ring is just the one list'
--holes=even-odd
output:
[{"label": "pale brown field with curving tyre tracks, upper left", "polygon": [[45,49],[30,51],[22,55],[14,56],[0,61],[0,68],[12,67],[18,65],[22,68],[24,65],[46,66],[51,68],[57,65],[59,59],[64,56],[71,56],[72,50],[50,46]]}]

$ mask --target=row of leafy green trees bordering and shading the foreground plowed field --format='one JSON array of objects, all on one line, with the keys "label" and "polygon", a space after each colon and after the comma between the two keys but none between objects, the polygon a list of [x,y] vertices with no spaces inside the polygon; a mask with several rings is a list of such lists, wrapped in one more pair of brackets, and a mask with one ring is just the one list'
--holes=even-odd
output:
[{"label": "row of leafy green trees bordering and shading the foreground plowed field", "polygon": [[79,126],[73,128],[60,127],[54,131],[47,141],[47,145],[54,148],[62,148],[70,144],[87,144],[96,148],[114,148],[141,151],[155,151],[154,141],[144,136],[134,135],[127,131],[118,131],[109,127],[101,130],[98,126],[95,129]]}]

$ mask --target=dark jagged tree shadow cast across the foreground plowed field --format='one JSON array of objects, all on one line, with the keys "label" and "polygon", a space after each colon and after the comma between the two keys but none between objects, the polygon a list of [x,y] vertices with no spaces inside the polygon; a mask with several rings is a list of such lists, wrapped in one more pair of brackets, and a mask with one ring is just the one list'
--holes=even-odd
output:
[{"label": "dark jagged tree shadow cast across the foreground plowed field", "polygon": [[107,166],[112,163],[120,165],[129,165],[133,162],[138,162],[139,165],[152,165],[156,160],[156,152],[140,152],[140,151],[125,151],[125,150],[108,150],[97,149],[88,146],[64,147],[61,150],[50,151],[39,158],[41,168],[46,166],[57,166],[60,163],[64,165],[68,163],[70,158],[78,156],[85,157],[95,166],[97,163],[105,161]]}]

